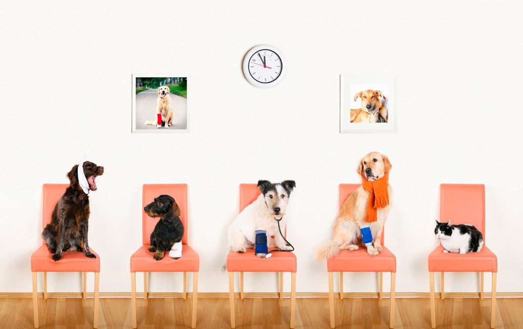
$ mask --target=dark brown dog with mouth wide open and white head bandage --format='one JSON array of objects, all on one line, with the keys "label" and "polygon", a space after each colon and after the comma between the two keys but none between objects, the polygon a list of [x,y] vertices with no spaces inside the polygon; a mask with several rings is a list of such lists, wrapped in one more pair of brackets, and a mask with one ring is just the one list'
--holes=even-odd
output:
[{"label": "dark brown dog with mouth wide open and white head bandage", "polygon": [[[95,177],[104,174],[104,167],[86,161],[83,163],[83,173],[87,183],[84,189],[96,191]],[[89,251],[87,243],[87,231],[89,228],[89,197],[82,189],[78,180],[78,165],[75,165],[67,177],[71,184],[65,190],[51,215],[51,223],[43,229],[42,236],[46,241],[49,252],[54,254],[53,260],[56,262],[62,258],[63,251],[84,252],[86,257],[96,258],[95,254]],[[88,185],[88,186],[87,186]],[[83,243],[83,249],[82,249]]]}]

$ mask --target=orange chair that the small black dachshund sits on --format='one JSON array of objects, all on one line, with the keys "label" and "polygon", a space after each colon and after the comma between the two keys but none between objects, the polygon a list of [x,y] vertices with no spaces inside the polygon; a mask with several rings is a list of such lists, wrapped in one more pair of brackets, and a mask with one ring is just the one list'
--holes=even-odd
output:
[{"label": "orange chair that the small black dachshund sits on", "polygon": [[[159,218],[151,218],[143,211],[143,207],[149,205],[154,198],[166,194],[172,196],[181,214],[180,220],[184,224],[184,236],[181,239],[183,244],[182,256],[173,259],[165,255],[162,260],[153,258],[153,253],[147,250],[151,244],[151,233]],[[183,272],[184,273],[184,294],[187,299],[187,272],[192,272],[192,324],[196,327],[196,303],[198,299],[198,272],[200,270],[200,257],[187,245],[187,184],[144,184],[142,190],[142,242],[143,245],[131,256],[131,294],[132,294],[132,324],[137,327],[136,309],[136,273],[143,272],[143,298],[147,299],[147,272]],[[168,253],[168,252],[166,252]]]}]

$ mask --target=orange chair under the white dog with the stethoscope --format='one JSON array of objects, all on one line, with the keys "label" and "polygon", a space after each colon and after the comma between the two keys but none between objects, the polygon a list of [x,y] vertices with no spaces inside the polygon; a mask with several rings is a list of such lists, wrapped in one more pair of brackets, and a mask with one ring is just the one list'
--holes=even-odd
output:
[{"label": "orange chair under the white dog with the stethoscope", "polygon": [[[240,184],[240,212],[250,205],[260,195],[256,184]],[[285,228],[282,228],[284,232]],[[285,233],[284,233],[285,234]],[[271,248],[270,250],[276,250]],[[231,328],[235,328],[234,319],[234,272],[240,272],[240,299],[243,299],[244,272],[279,272],[280,294],[283,299],[283,272],[291,272],[291,317],[290,327],[294,328],[294,311],[296,307],[296,256],[291,252],[277,252],[272,257],[260,259],[254,255],[254,249],[247,249],[245,253],[230,252],[227,256],[227,270],[229,271],[229,300],[231,304]]]}]

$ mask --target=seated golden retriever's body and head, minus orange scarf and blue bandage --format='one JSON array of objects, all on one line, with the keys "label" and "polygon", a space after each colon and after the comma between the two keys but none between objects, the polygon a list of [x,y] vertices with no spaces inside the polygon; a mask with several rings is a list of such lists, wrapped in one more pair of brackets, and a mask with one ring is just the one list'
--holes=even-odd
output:
[{"label": "seated golden retriever's body and head, minus orange scarf and blue bandage", "polygon": [[[364,173],[366,178],[363,179],[374,181],[389,173],[391,168],[392,165],[388,157],[379,152],[371,152],[361,159],[358,165],[358,174]],[[390,185],[387,187],[387,191],[389,193],[389,206],[378,209],[378,221],[372,223],[365,222],[369,192],[363,189],[363,186],[352,192],[339,211],[332,240],[317,250],[316,259],[324,260],[334,257],[341,249],[356,250],[359,246],[365,246],[361,241],[360,227],[362,225],[369,225],[372,232],[373,245],[367,247],[367,252],[370,255],[378,255],[382,251],[380,243],[383,225],[392,205],[392,187]]]}]

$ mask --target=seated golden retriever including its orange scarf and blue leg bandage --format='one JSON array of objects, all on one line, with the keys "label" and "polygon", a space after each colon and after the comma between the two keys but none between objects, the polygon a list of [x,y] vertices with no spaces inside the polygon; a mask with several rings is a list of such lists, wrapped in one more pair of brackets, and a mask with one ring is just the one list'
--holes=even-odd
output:
[{"label": "seated golden retriever including its orange scarf and blue leg bandage", "polygon": [[352,192],[339,211],[332,240],[316,252],[316,259],[336,256],[340,250],[367,247],[370,255],[378,255],[381,234],[392,204],[389,158],[379,152],[365,155],[359,162],[358,174],[362,185]]}]

